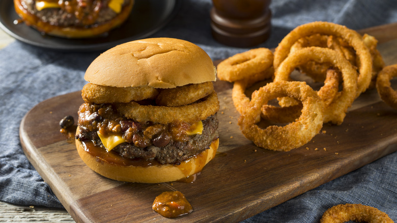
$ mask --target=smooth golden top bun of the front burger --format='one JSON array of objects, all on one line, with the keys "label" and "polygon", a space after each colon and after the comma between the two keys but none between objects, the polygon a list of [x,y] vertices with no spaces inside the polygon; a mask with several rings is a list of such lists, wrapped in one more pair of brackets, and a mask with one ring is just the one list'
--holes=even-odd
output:
[{"label": "smooth golden top bun of the front burger", "polygon": [[111,87],[175,88],[214,81],[209,55],[197,45],[173,38],[135,40],[115,46],[96,58],[84,79]]}]

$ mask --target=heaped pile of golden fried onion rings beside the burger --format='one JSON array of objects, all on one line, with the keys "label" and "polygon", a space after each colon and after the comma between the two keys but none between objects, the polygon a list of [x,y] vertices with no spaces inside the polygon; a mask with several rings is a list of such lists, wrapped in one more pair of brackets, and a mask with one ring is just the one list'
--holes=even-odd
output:
[{"label": "heaped pile of golden fried onion rings beside the burger", "polygon": [[[306,128],[282,128],[277,125],[261,129],[256,125],[260,119],[293,126],[298,125],[299,120],[316,116],[316,124],[322,117],[321,126],[328,122],[341,125],[353,101],[374,86],[374,80],[384,67],[377,43],[374,37],[361,36],[343,25],[311,22],[291,31],[281,40],[274,54],[264,48],[238,53],[217,66],[217,75],[220,80],[234,82],[232,99],[241,115],[238,124],[245,137],[265,149],[288,151],[302,146],[302,142],[308,142],[321,127],[312,127],[315,133],[309,133]],[[262,57],[258,54],[260,50]],[[269,65],[271,60],[273,66]],[[240,65],[244,65],[243,68]],[[307,111],[307,101],[303,102],[297,95],[285,97],[291,92],[281,90],[287,88],[287,84],[279,85],[278,82],[295,82],[291,77],[295,69],[311,77],[314,82],[324,82],[320,90],[311,89],[316,97],[307,100],[321,107],[321,115],[317,110]],[[260,88],[251,97],[245,94],[247,88],[263,80],[271,83],[268,83],[269,87]],[[278,94],[273,92],[271,96],[282,95],[277,96],[277,106],[268,104],[268,100],[273,99],[269,98],[272,92],[269,88],[278,91]],[[282,134],[279,133],[281,131]],[[287,135],[293,139],[286,140]]]}]

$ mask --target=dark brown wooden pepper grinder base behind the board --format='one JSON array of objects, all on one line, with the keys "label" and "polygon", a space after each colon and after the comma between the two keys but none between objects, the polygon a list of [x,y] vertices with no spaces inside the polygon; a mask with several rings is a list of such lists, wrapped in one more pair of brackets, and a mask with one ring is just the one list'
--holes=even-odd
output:
[{"label": "dark brown wooden pepper grinder base behind the board", "polygon": [[212,0],[211,30],[215,40],[235,47],[258,45],[270,35],[271,0]]}]

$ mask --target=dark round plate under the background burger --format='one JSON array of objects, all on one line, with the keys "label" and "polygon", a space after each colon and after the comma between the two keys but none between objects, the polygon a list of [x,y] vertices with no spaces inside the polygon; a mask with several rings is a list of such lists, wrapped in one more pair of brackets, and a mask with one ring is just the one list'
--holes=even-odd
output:
[{"label": "dark round plate under the background burger", "polygon": [[180,8],[180,0],[135,0],[130,17],[107,36],[89,39],[65,39],[42,35],[19,19],[12,0],[0,0],[0,27],[22,42],[63,51],[105,50],[131,40],[142,39],[160,30]]}]

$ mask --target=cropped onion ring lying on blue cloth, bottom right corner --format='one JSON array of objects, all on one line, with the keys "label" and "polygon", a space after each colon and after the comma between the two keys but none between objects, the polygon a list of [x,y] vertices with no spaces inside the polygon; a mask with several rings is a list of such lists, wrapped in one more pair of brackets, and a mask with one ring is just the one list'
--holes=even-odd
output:
[{"label": "cropped onion ring lying on blue cloth, bottom right corner", "polygon": [[320,223],[343,223],[346,221],[394,223],[385,212],[362,204],[335,205],[326,210],[320,219]]}]

